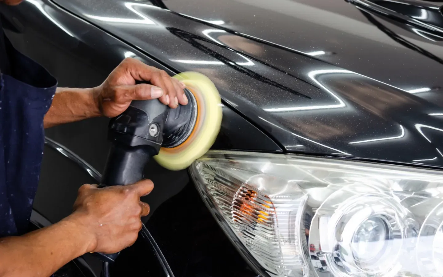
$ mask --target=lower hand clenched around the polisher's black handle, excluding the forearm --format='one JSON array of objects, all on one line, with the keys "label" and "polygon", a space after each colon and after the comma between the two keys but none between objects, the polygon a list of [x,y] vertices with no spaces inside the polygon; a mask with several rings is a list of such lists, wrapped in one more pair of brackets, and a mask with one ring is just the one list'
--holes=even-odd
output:
[{"label": "lower hand clenched around the polisher's black handle, excluding the forearm", "polygon": [[142,226],[140,217],[149,214],[149,205],[141,202],[140,196],[153,188],[151,180],[104,188],[84,184],[68,220],[91,236],[89,252],[116,253],[136,241]]}]

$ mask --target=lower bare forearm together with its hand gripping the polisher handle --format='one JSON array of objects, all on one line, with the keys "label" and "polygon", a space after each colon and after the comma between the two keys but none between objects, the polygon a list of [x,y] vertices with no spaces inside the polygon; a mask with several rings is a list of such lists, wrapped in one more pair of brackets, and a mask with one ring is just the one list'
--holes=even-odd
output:
[{"label": "lower bare forearm together with its hand gripping the polisher handle", "polygon": [[140,196],[153,187],[150,180],[105,188],[83,185],[70,216],[23,236],[0,238],[0,277],[46,277],[87,252],[116,253],[132,245],[140,217],[149,213]]}]

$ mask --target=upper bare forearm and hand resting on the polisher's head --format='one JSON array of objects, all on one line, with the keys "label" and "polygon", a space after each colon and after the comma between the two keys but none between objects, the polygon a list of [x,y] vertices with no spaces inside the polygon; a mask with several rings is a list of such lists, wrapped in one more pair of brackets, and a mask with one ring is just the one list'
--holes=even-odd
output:
[{"label": "upper bare forearm and hand resting on the polisher's head", "polygon": [[[149,82],[150,84],[136,82]],[[126,58],[95,88],[57,88],[52,105],[43,120],[45,128],[91,117],[116,117],[132,100],[158,98],[177,108],[186,105],[184,84],[164,70]]]}]

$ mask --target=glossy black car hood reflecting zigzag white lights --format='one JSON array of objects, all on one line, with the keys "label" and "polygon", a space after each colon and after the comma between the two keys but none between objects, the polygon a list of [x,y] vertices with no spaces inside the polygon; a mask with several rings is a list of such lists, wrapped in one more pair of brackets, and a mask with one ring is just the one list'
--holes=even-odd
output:
[{"label": "glossy black car hood reflecting zigzag white lights", "polygon": [[287,152],[443,166],[435,32],[343,0],[56,2],[176,71],[206,74]]}]

